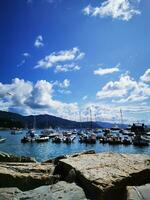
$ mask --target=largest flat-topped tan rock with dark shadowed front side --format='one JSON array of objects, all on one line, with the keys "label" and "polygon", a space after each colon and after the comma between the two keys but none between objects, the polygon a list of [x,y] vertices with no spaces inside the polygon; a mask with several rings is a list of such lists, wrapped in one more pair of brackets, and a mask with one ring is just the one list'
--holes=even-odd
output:
[{"label": "largest flat-topped tan rock with dark shadowed front side", "polygon": [[141,185],[150,181],[150,156],[117,153],[79,154],[59,161],[56,173],[73,179],[94,200],[125,199],[127,185]]}]

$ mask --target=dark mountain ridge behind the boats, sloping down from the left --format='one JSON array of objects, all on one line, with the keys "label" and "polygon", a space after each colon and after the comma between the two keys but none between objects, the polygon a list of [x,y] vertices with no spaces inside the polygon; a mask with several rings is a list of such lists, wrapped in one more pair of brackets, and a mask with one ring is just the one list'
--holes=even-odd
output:
[{"label": "dark mountain ridge behind the boats, sloping down from the left", "polygon": [[[75,122],[52,115],[22,116],[12,112],[0,111],[0,127],[3,128],[33,128],[34,118],[36,128],[60,127],[60,128],[91,128],[91,122]],[[93,128],[101,128],[98,123],[92,122]]]}]

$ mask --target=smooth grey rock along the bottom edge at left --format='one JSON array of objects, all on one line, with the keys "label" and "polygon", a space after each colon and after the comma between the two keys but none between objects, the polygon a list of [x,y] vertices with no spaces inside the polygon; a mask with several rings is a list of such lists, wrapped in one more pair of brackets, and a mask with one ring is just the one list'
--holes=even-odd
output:
[{"label": "smooth grey rock along the bottom edge at left", "polygon": [[64,181],[51,186],[41,186],[34,190],[22,192],[17,188],[0,188],[1,200],[86,200],[85,194],[75,183]]}]

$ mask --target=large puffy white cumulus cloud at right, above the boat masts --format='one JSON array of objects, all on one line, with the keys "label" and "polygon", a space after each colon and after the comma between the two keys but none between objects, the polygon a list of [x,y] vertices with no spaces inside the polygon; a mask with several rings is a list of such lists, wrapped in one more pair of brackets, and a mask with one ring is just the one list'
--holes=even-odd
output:
[{"label": "large puffy white cumulus cloud at right, above the boat masts", "polygon": [[110,81],[104,85],[96,96],[99,99],[111,98],[120,103],[143,101],[150,98],[150,86],[135,81],[129,74],[123,74],[118,81]]}]

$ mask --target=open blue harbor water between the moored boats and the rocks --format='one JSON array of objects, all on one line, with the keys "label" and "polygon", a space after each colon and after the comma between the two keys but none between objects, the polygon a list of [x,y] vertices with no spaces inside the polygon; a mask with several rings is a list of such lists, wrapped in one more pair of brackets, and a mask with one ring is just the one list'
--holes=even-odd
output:
[{"label": "open blue harbor water between the moored boats and the rocks", "polygon": [[[40,133],[41,130],[37,130]],[[10,131],[0,131],[0,136],[6,138],[6,141],[0,143],[0,151],[12,153],[15,155],[34,157],[37,161],[45,161],[60,155],[79,153],[86,150],[95,150],[96,152],[117,152],[130,154],[149,154],[150,146],[138,147],[134,145],[109,145],[101,144],[97,140],[96,144],[79,143],[77,136],[71,144],[55,144],[51,140],[43,143],[21,143],[21,138],[27,131],[22,134],[12,135]]]}]

